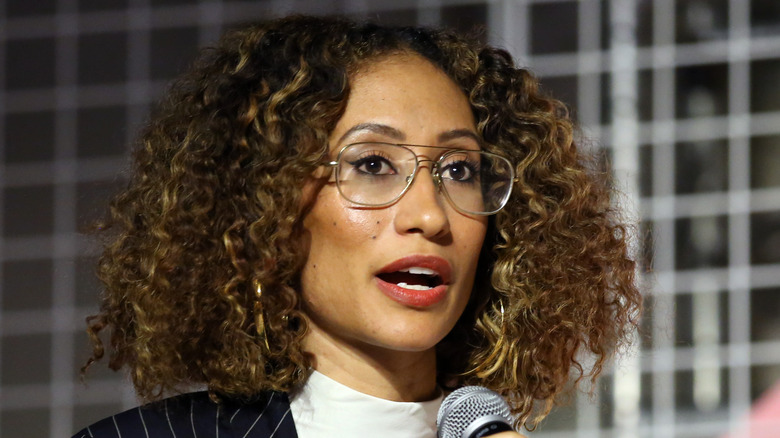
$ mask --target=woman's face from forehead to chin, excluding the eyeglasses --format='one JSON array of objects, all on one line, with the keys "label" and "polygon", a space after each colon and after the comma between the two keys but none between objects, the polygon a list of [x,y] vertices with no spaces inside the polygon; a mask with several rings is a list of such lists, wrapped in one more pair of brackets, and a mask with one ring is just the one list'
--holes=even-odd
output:
[{"label": "woman's face from forehead to chin, excluding the eyeglasses", "polygon": [[[476,138],[457,85],[418,56],[394,55],[352,78],[346,110],[330,136],[330,157],[356,142],[479,149]],[[435,150],[411,149],[438,158]],[[429,162],[421,163],[409,190],[385,207],[345,200],[334,181],[331,175],[316,192],[304,218],[310,237],[302,272],[307,336],[318,339],[315,344],[433,349],[469,300],[487,219],[455,210],[434,185]],[[307,190],[313,186],[308,183]],[[412,285],[429,280],[436,286]],[[307,348],[318,347],[310,342]]]}]

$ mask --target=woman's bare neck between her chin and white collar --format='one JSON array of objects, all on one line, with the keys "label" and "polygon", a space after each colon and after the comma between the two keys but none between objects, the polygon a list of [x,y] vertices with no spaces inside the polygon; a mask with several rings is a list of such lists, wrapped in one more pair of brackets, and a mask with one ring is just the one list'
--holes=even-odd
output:
[{"label": "woman's bare neck between her chin and white collar", "polygon": [[314,324],[303,342],[320,373],[356,391],[391,401],[435,398],[436,350],[398,351],[334,339]]}]

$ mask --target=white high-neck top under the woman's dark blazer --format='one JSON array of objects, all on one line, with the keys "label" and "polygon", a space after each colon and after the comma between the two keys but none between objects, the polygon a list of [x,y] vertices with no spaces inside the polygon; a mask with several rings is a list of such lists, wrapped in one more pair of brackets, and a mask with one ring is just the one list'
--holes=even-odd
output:
[{"label": "white high-neck top under the woman's dark blazer", "polygon": [[395,402],[355,391],[317,371],[290,396],[299,438],[435,438],[443,395]]}]

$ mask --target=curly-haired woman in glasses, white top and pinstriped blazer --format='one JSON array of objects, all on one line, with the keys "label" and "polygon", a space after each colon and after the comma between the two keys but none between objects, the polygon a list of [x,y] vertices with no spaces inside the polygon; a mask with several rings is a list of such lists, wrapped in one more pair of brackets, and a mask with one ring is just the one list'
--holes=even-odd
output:
[{"label": "curly-haired woman in glasses, white top and pinstriped blazer", "polygon": [[89,321],[142,399],[207,392],[76,436],[432,437],[471,384],[532,428],[640,302],[572,131],[506,52],[445,31],[226,34],[143,133]]}]

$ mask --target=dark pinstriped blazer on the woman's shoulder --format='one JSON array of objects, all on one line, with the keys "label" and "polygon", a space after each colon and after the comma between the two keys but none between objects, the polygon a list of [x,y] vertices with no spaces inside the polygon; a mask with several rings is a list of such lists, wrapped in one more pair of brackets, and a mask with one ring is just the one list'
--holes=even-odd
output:
[{"label": "dark pinstriped blazer on the woman's shoulder", "polygon": [[98,421],[73,438],[298,438],[287,394],[267,392],[250,403],[214,403],[195,392]]}]

